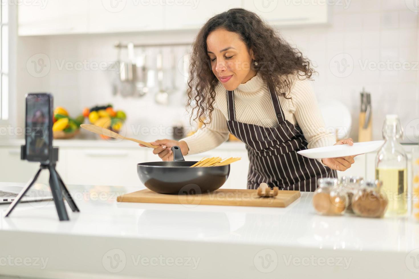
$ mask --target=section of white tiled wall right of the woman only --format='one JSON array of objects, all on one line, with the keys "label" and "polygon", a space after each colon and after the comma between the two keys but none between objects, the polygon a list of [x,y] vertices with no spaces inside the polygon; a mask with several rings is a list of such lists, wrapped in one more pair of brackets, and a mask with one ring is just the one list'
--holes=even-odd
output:
[{"label": "section of white tiled wall right of the woman only", "polygon": [[[282,33],[318,65],[319,75],[313,82],[318,99],[344,102],[351,110],[354,124],[358,123],[359,92],[365,87],[372,93],[373,139],[381,138],[387,113],[399,114],[404,126],[419,118],[419,67],[414,67],[419,61],[418,14],[409,10],[404,1],[353,0],[348,9],[334,9],[331,26],[282,30]],[[326,47],[322,50],[319,46],[323,45],[323,34]],[[349,54],[354,61],[353,71],[347,77],[336,77],[333,72],[336,69],[329,67],[331,59],[341,53]],[[364,67],[387,61],[390,66],[409,62],[414,69]],[[350,136],[357,138],[357,130],[354,125]]]}]

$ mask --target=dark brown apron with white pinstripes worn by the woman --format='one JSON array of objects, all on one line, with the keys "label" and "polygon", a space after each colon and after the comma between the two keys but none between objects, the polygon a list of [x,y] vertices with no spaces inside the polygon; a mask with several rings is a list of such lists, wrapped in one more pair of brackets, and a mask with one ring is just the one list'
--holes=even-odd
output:
[{"label": "dark brown apron with white pinstripes worn by the woman", "polygon": [[234,91],[226,90],[228,131],[246,143],[250,161],[247,188],[257,189],[265,182],[282,190],[313,192],[318,178],[336,178],[336,170],[297,154],[297,151],[307,149],[308,142],[300,127],[285,119],[275,88],[269,82],[268,90],[278,120],[278,126],[274,128],[236,121]]}]

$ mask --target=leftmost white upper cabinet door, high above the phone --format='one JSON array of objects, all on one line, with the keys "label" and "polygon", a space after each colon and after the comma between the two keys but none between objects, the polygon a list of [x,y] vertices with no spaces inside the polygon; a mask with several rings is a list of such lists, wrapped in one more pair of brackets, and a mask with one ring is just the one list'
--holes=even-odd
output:
[{"label": "leftmost white upper cabinet door, high above the phone", "polygon": [[18,5],[19,36],[88,32],[88,1],[34,1]]}]

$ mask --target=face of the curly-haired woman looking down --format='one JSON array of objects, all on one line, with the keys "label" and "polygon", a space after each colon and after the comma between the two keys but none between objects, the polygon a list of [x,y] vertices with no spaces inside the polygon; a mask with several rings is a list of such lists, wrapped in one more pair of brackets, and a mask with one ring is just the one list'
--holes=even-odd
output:
[{"label": "face of the curly-haired woman looking down", "polygon": [[207,54],[211,69],[226,90],[235,90],[239,84],[256,75],[251,69],[253,51],[235,32],[217,29],[207,36]]}]

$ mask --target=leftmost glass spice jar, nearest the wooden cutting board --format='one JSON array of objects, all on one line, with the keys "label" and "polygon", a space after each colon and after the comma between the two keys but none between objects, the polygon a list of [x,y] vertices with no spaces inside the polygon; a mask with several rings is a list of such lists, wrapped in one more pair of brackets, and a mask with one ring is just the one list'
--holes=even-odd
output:
[{"label": "leftmost glass spice jar, nearest the wooden cutting board", "polygon": [[348,205],[347,196],[336,178],[320,178],[313,196],[313,207],[321,215],[342,215]]}]

